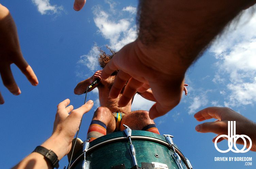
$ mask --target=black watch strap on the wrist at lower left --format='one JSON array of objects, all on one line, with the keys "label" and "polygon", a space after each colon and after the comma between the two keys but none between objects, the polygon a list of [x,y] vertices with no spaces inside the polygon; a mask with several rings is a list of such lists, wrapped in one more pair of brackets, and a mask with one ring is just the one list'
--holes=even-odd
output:
[{"label": "black watch strap on the wrist at lower left", "polygon": [[37,146],[33,152],[38,152],[44,155],[45,158],[52,164],[53,167],[59,168],[58,157],[52,150],[48,150],[42,146]]}]

